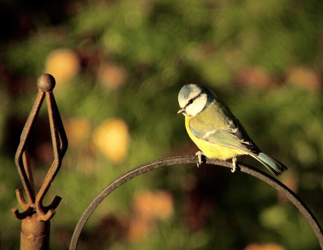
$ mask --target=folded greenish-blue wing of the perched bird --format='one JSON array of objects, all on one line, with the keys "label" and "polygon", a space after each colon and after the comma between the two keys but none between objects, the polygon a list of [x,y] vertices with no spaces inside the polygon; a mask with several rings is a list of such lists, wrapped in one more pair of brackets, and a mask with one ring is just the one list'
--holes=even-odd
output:
[{"label": "folded greenish-blue wing of the perched bird", "polygon": [[[242,150],[252,155],[259,154],[260,150],[250,139],[238,119],[230,119],[226,128],[221,129],[217,129],[212,123],[201,123],[200,119],[192,119],[189,123],[190,129],[196,137],[210,143]],[[203,129],[197,129],[197,127]]]}]

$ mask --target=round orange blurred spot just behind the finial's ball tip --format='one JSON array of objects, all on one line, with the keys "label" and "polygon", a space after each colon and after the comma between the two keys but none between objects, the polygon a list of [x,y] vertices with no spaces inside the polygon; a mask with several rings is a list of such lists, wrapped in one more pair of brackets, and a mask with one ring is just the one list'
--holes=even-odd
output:
[{"label": "round orange blurred spot just behind the finial's ball tip", "polygon": [[57,49],[46,58],[45,72],[53,75],[56,86],[72,80],[80,71],[80,59],[71,49]]}]

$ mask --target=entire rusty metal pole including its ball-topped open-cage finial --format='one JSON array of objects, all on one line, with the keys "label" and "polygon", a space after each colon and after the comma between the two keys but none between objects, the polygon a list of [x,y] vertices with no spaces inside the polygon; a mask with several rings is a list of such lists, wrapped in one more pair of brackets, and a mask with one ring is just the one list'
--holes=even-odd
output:
[{"label": "entire rusty metal pole including its ball-topped open-cage finial", "polygon": [[[42,205],[42,200],[47,190],[52,184],[60,166],[62,158],[67,150],[67,137],[64,126],[59,115],[59,111],[53,95],[55,79],[50,74],[43,74],[37,81],[39,92],[35,99],[32,110],[20,136],[20,143],[15,156],[15,163],[25,189],[27,201],[23,190],[17,189],[16,196],[19,205],[24,212],[20,213],[17,208],[11,211],[17,219],[21,219],[20,249],[21,250],[48,250],[50,235],[50,219],[55,215],[55,209],[61,201],[61,197],[55,196],[52,203],[48,206]],[[46,97],[47,110],[53,143],[54,161],[40,187],[37,195],[35,194],[32,169],[29,161],[27,140],[34,125],[41,104]]]}]

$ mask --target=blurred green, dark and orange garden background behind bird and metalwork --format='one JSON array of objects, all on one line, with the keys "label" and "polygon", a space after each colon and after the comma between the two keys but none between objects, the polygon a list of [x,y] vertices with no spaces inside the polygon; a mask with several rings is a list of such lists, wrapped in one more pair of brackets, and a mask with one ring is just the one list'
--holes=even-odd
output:
[{"label": "blurred green, dark and orange garden background behind bird and metalwork", "polygon": [[[19,248],[14,155],[44,72],[69,140],[44,204],[51,249],[67,249],[92,198],[123,172],[194,154],[177,94],[211,88],[279,179],[323,223],[323,1],[0,1],[0,242]],[[44,103],[28,144],[39,188],[53,159]],[[240,161],[258,166],[250,157]],[[79,249],[316,250],[300,212],[268,185],[195,164],[137,177],[101,203]]]}]

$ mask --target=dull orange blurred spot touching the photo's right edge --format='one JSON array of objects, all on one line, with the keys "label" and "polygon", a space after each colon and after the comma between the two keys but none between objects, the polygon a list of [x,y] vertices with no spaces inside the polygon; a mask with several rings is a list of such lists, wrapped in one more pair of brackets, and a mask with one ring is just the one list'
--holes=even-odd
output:
[{"label": "dull orange blurred spot touching the photo's right edge", "polygon": [[321,77],[313,69],[306,66],[295,66],[287,71],[286,83],[307,90],[321,89]]}]

